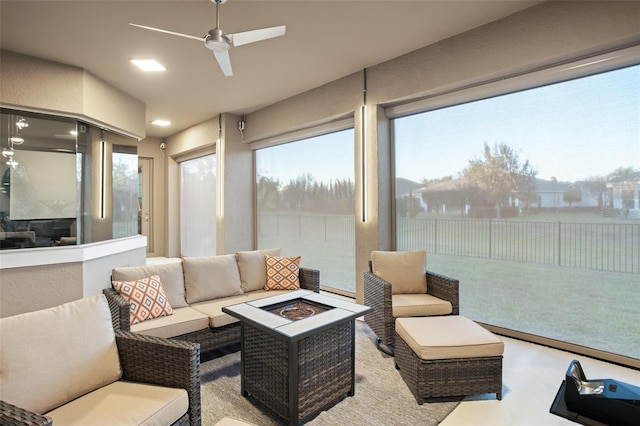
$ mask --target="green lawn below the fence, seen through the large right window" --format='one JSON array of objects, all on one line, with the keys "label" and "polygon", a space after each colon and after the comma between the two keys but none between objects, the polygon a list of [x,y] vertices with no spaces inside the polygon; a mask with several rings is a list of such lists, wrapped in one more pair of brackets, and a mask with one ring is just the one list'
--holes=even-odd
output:
[{"label": "green lawn below the fence, seen through the large right window", "polygon": [[460,280],[462,315],[640,359],[637,274],[439,255],[427,266]]}]

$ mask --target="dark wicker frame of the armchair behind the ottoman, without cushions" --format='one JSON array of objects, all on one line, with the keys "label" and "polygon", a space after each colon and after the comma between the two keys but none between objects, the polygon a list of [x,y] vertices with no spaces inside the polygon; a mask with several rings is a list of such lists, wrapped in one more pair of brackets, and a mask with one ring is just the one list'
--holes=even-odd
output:
[{"label": "dark wicker frame of the armchair behind the ottoman, without cushions", "polygon": [[[393,292],[389,281],[375,275],[372,262],[369,261],[369,271],[364,273],[364,304],[373,311],[364,316],[364,320],[371,330],[378,336],[376,344],[383,352],[393,355],[395,345],[395,320],[393,314]],[[458,315],[459,281],[445,275],[425,271],[427,294],[451,303],[449,315]]]}]

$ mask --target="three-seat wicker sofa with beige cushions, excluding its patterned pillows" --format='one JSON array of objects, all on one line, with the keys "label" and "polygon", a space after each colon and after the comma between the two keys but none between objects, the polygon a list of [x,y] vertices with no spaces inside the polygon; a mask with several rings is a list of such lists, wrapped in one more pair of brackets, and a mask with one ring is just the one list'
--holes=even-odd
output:
[{"label": "three-seat wicker sofa with beige cushions, excluding its patterned pillows", "polygon": [[[222,312],[224,306],[273,296],[288,290],[265,290],[265,256],[279,249],[230,255],[172,259],[167,263],[115,268],[113,281],[158,275],[173,314],[131,325],[130,302],[113,288],[103,290],[116,329],[196,342],[201,352],[240,342],[240,323]],[[320,271],[299,269],[300,288],[320,291]]]}]

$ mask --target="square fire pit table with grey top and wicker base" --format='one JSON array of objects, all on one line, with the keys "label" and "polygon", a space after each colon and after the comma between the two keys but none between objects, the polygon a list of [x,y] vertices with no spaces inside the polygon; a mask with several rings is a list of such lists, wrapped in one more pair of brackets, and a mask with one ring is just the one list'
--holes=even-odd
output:
[{"label": "square fire pit table with grey top and wicker base", "polygon": [[241,321],[245,397],[297,425],[355,392],[355,319],[368,306],[295,290],[222,308]]}]

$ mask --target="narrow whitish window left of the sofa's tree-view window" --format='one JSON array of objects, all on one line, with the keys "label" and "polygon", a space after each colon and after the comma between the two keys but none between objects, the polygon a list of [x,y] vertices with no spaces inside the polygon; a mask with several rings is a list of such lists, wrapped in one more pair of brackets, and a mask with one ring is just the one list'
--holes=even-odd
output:
[{"label": "narrow whitish window left of the sofa's tree-view window", "polygon": [[216,254],[216,156],[180,163],[180,251]]}]

